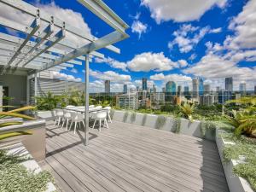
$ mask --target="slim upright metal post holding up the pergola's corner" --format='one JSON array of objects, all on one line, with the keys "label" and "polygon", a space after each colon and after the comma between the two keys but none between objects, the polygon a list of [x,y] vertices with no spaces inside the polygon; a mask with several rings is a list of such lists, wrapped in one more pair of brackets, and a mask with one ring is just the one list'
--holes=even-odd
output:
[{"label": "slim upright metal post holding up the pergola's corner", "polygon": [[89,143],[89,54],[85,56],[84,70],[85,70],[85,73],[84,73],[84,81],[85,81],[84,145],[86,146]]}]

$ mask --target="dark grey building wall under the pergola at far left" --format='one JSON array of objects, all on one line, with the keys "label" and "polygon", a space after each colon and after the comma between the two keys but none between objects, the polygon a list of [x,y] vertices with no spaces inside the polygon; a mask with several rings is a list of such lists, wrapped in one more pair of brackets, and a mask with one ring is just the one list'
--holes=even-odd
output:
[{"label": "dark grey building wall under the pergola at far left", "polygon": [[9,105],[17,107],[26,105],[26,76],[0,75],[0,85],[9,87],[9,96],[14,97],[9,101]]}]

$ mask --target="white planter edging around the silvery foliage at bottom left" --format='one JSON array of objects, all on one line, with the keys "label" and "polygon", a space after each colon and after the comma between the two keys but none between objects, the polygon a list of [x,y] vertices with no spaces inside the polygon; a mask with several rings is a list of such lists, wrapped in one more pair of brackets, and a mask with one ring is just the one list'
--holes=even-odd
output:
[{"label": "white planter edging around the silvery foliage at bottom left", "polygon": [[[42,172],[42,169],[40,168],[40,166],[38,166],[38,163],[32,159],[32,155],[26,150],[22,143],[15,143],[4,148],[8,150],[8,154],[19,154],[20,156],[24,155],[24,157],[29,157],[29,160],[20,163],[20,165],[25,166],[27,170],[33,171],[35,173]],[[53,191],[56,191],[55,185],[49,182],[47,184],[47,189],[45,190],[45,192]]]}]

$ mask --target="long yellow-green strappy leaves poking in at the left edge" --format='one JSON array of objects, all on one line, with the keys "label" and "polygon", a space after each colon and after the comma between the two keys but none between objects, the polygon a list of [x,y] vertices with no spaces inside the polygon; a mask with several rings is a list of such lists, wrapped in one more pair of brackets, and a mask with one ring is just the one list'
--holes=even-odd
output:
[{"label": "long yellow-green strappy leaves poking in at the left edge", "polygon": [[[10,108],[12,106],[3,106],[1,108]],[[14,108],[14,107],[12,107]],[[2,122],[0,122],[0,129],[1,127],[5,127],[5,126],[10,126],[10,125],[20,125],[23,124],[23,121],[12,121],[12,119],[8,120],[8,121],[4,121],[4,119],[8,119],[10,117],[15,117],[15,118],[22,118],[22,119],[28,119],[28,120],[33,120],[34,118],[25,115],[25,114],[21,114],[20,112],[26,111],[26,110],[32,110],[35,107],[32,106],[26,106],[23,108],[16,108],[14,110],[10,110],[8,112],[0,112],[0,119],[3,119]],[[5,138],[9,138],[9,137],[15,137],[15,136],[20,136],[20,135],[31,135],[32,132],[31,131],[15,131],[15,132],[10,132],[10,133],[4,133],[4,134],[0,134],[0,140],[5,139]]]}]

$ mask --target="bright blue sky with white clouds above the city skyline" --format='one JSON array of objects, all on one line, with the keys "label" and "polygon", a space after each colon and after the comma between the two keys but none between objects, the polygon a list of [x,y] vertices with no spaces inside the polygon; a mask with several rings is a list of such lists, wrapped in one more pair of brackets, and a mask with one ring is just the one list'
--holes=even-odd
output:
[{"label": "bright blue sky with white clouds above the city skyline", "polygon": [[[26,1],[37,4],[61,20],[73,22],[98,38],[113,29],[73,0]],[[235,89],[256,84],[256,1],[235,0],[105,0],[130,26],[130,38],[114,44],[117,55],[101,49],[105,59],[90,63],[90,86],[103,89],[110,79],[112,91],[123,84],[140,85],[143,77],[158,90],[173,80],[191,86],[201,76],[205,84],[224,88],[224,77],[232,76]],[[50,9],[49,9],[50,8]],[[67,10],[71,9],[71,10]],[[71,11],[72,15],[69,15]],[[67,14],[69,13],[69,14]],[[81,15],[78,15],[80,13]],[[84,20],[83,23],[76,22]],[[84,81],[83,67],[61,71]]]}]

